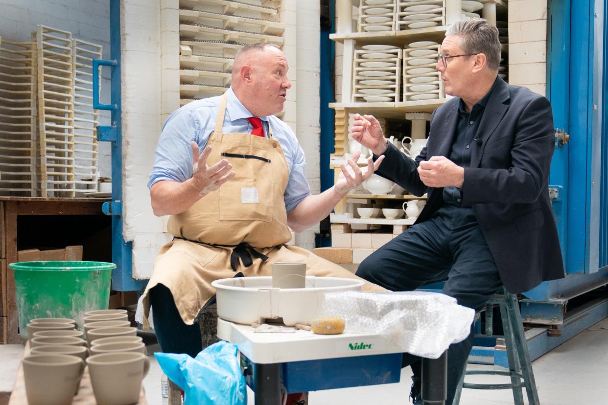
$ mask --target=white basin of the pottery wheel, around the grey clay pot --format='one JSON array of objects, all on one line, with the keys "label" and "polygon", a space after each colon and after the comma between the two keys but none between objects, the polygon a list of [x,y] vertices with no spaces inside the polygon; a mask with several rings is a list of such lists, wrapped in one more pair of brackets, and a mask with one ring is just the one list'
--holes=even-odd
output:
[{"label": "white basin of the pottery wheel, around the grey clay pot", "polygon": [[363,285],[358,279],[315,276],[306,276],[306,288],[272,288],[272,277],[237,277],[211,283],[217,290],[219,318],[250,325],[280,317],[288,326],[310,323],[325,293],[360,291]]}]

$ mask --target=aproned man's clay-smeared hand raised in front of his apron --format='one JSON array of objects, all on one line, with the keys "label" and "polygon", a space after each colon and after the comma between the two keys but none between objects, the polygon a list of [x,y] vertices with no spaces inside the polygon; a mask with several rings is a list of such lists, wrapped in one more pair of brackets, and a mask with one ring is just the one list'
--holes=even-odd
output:
[{"label": "aproned man's clay-smeared hand raised in front of his apron", "polygon": [[211,153],[210,146],[206,146],[202,154],[196,142],[191,142],[190,146],[192,146],[192,181],[200,196],[215,191],[234,177],[234,172],[230,171],[232,165],[226,159],[220,160],[213,166],[207,165],[207,158]]}]

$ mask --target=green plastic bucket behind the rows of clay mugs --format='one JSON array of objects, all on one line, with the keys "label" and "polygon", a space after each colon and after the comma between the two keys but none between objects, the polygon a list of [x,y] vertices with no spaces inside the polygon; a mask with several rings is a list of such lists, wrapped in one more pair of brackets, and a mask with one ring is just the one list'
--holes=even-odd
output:
[{"label": "green plastic bucket behind the rows of clay mugs", "polygon": [[82,327],[85,312],[108,308],[113,263],[19,262],[15,271],[19,335],[33,318],[70,318]]}]

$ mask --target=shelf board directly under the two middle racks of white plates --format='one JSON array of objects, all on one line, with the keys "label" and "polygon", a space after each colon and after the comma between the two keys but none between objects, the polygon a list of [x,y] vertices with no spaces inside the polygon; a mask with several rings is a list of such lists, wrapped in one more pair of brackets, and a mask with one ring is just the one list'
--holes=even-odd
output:
[{"label": "shelf board directly under the two middle racks of white plates", "polygon": [[359,114],[378,115],[384,118],[404,120],[406,112],[433,112],[446,103],[449,98],[435,100],[399,101],[399,103],[330,103],[333,109],[355,109]]}]

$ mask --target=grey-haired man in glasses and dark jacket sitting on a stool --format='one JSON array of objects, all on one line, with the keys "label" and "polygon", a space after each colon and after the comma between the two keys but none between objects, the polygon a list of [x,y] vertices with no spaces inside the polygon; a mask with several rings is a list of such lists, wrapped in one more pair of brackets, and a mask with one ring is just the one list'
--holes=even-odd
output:
[{"label": "grey-haired man in glasses and dark jacket sitting on a stool", "polygon": [[[446,94],[415,160],[387,142],[378,120],[354,116],[352,136],[385,159],[376,174],[428,200],[413,226],[368,256],[357,275],[393,291],[446,281],[443,293],[479,310],[503,285],[528,291],[564,276],[548,197],[554,148],[551,105],[498,75],[498,30],[485,19],[449,27],[435,69]],[[473,330],[448,350],[451,404]],[[404,355],[420,400],[420,361]]]}]

